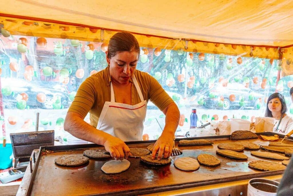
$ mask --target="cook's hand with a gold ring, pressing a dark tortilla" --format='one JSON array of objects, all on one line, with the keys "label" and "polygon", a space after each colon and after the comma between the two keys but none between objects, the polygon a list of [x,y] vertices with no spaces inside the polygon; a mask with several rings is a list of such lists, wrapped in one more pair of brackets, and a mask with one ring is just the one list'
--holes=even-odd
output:
[{"label": "cook's hand with a gold ring, pressing a dark tortilla", "polygon": [[171,134],[162,134],[159,139],[154,144],[153,152],[151,158],[155,159],[158,152],[158,160],[161,158],[169,158],[173,149],[173,135]]}]

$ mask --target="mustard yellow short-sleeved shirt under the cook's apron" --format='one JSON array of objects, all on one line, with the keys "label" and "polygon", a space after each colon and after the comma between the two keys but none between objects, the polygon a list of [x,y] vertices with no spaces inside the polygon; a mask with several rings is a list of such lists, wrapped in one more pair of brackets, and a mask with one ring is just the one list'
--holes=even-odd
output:
[{"label": "mustard yellow short-sleeved shirt under the cook's apron", "polygon": [[[147,102],[151,100],[160,110],[174,102],[159,82],[149,73],[135,70],[134,76]],[[97,127],[105,101],[111,100],[110,82],[109,67],[86,78],[77,90],[68,112],[76,112],[83,118],[89,112],[91,125]],[[130,82],[133,83],[132,79],[130,79]],[[140,103],[141,100],[134,85],[132,85],[131,92],[131,105]]]}]

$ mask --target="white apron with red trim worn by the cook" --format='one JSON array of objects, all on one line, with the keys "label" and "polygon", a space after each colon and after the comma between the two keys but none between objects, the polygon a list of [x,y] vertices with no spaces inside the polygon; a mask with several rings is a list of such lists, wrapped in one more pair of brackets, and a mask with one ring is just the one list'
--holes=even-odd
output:
[{"label": "white apron with red trim worn by the cook", "polygon": [[135,76],[132,76],[132,80],[141,102],[136,105],[116,103],[113,85],[110,83],[111,101],[105,102],[97,125],[98,130],[122,141],[142,140],[143,123],[147,114],[147,100],[144,100]]}]

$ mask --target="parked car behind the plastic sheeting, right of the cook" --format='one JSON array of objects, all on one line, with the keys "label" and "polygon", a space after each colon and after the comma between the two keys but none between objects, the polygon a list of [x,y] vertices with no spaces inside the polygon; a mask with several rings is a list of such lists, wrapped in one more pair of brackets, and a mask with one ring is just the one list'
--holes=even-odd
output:
[{"label": "parked car behind the plastic sheeting, right of the cook", "polygon": [[[207,91],[203,97],[203,102],[205,108],[213,109],[260,109],[264,98],[264,94],[246,88],[243,84],[231,83],[227,87],[219,85]],[[221,103],[219,103],[220,100]]]}]

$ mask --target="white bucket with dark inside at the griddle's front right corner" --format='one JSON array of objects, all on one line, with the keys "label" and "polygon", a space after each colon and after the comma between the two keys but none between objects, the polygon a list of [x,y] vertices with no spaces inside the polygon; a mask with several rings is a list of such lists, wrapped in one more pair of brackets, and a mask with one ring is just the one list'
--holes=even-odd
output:
[{"label": "white bucket with dark inside at the griddle's front right corner", "polygon": [[247,196],[275,196],[279,182],[264,178],[253,178],[248,182]]}]

